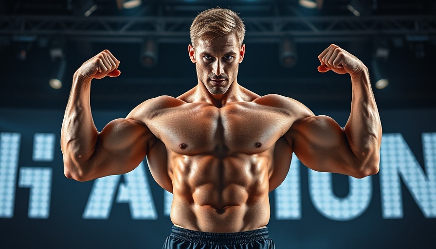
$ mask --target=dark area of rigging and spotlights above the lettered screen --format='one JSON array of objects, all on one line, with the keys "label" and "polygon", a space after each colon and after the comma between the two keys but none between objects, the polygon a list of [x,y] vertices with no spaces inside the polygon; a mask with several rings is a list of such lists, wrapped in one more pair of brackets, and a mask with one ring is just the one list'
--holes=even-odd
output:
[{"label": "dark area of rigging and spotlights above the lettered screen", "polygon": [[[74,71],[109,49],[122,75],[94,84],[92,106],[131,109],[197,84],[187,45],[192,19],[220,6],[240,13],[247,53],[239,83],[311,109],[348,109],[347,77],[317,72],[331,43],[360,58],[379,108],[435,107],[434,0],[2,0],[0,107],[63,109]],[[135,7],[136,6],[136,7]],[[308,8],[309,7],[309,8]],[[49,85],[51,77],[62,82]],[[381,88],[386,82],[381,84]],[[268,87],[266,87],[268,86]]]}]

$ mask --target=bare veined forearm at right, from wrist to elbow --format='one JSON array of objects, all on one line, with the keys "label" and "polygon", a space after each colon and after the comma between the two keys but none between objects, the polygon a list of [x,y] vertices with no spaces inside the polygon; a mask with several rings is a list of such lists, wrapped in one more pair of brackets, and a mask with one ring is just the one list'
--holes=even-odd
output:
[{"label": "bare veined forearm at right, from wrist to elbow", "polygon": [[345,125],[348,144],[363,166],[376,166],[382,142],[382,125],[366,67],[351,75],[351,113]]}]

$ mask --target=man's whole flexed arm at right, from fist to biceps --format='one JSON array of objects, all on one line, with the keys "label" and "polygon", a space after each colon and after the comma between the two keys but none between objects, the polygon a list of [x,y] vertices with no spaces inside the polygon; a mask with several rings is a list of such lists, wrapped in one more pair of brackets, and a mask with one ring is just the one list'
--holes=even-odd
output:
[{"label": "man's whole flexed arm at right, from fist to biceps", "polygon": [[332,44],[318,56],[318,71],[349,73],[351,112],[344,128],[327,116],[295,122],[292,147],[309,168],[362,178],[379,171],[382,125],[366,66]]}]

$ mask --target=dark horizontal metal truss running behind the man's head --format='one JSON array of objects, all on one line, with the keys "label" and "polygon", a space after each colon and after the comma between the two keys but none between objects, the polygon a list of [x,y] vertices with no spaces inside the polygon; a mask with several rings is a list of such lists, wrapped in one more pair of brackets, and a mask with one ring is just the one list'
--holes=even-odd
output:
[{"label": "dark horizontal metal truss running behind the man's head", "polygon": [[[433,36],[436,16],[334,16],[244,18],[246,40],[296,42],[353,40],[371,36]],[[66,36],[104,42],[142,42],[146,36],[178,43],[189,39],[187,17],[0,16],[0,36]]]}]

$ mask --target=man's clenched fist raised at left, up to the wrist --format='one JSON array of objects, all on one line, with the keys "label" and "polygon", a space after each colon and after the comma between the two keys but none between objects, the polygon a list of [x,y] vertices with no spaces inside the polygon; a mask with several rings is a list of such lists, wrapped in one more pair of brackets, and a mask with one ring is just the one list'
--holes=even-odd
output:
[{"label": "man's clenched fist raised at left, up to the wrist", "polygon": [[116,77],[121,73],[117,69],[118,65],[120,61],[109,50],[104,50],[83,63],[76,73],[84,80],[101,79],[106,76]]}]

